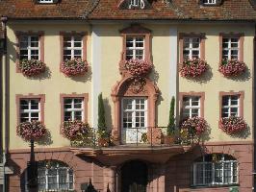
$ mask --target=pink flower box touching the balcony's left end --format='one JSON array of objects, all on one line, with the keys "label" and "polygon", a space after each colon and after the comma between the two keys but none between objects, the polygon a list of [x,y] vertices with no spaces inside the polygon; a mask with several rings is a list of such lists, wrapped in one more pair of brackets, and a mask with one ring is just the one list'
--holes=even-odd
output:
[{"label": "pink flower box touching the balcony's left end", "polygon": [[72,145],[93,145],[93,132],[88,123],[80,120],[68,120],[63,122],[62,132]]}]

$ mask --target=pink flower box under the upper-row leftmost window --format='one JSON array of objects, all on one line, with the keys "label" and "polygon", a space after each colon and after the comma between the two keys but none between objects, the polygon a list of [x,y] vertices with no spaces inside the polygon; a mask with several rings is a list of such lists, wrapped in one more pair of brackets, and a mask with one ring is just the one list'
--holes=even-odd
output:
[{"label": "pink flower box under the upper-row leftmost window", "polygon": [[46,64],[41,60],[20,60],[18,68],[24,76],[32,77],[43,73],[46,69]]}]

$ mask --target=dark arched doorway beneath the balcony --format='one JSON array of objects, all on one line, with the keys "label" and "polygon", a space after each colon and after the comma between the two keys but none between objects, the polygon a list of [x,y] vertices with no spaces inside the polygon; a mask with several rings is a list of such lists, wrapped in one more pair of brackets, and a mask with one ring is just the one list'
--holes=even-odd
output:
[{"label": "dark arched doorway beneath the balcony", "polygon": [[146,192],[147,165],[139,160],[121,167],[121,192]]}]

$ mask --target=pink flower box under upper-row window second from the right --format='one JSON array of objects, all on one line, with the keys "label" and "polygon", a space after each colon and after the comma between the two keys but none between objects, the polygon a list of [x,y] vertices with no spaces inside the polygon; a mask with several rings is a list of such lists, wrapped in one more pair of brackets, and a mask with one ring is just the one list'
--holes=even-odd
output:
[{"label": "pink flower box under upper-row window second from the right", "polygon": [[195,78],[201,76],[208,69],[208,64],[205,60],[192,59],[184,60],[180,64],[181,77]]}]

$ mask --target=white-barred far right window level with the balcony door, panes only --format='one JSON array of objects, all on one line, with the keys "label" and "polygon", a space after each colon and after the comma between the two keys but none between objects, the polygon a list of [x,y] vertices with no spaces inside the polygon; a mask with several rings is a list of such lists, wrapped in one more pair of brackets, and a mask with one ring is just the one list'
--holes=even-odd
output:
[{"label": "white-barred far right window level with the balcony door, panes only", "polygon": [[222,96],[221,117],[240,116],[239,95]]}]

